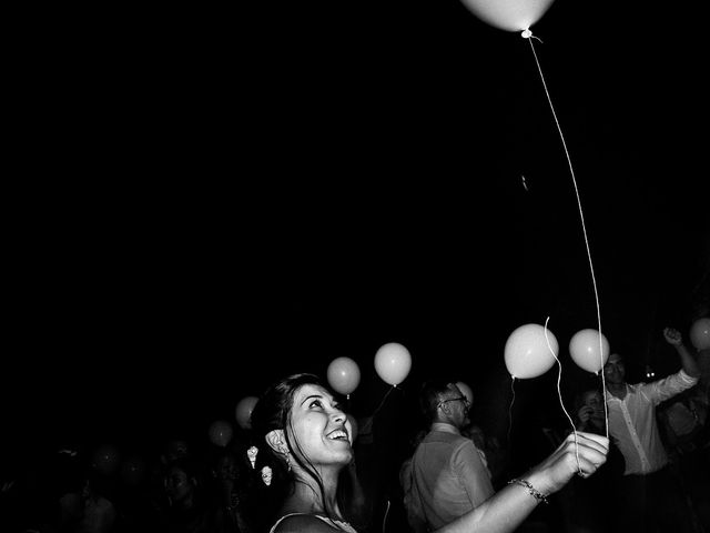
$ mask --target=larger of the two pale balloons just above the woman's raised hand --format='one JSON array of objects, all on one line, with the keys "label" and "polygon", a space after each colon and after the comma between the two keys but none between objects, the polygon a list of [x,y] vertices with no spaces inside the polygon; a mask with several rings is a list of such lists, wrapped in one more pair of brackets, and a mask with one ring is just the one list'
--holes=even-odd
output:
[{"label": "larger of the two pale balloons just above the woman's raised hand", "polygon": [[[547,339],[549,339],[549,346]],[[537,378],[555,364],[559,344],[549,330],[547,330],[547,339],[545,328],[539,324],[525,324],[510,333],[506,341],[505,361],[514,379]]]}]

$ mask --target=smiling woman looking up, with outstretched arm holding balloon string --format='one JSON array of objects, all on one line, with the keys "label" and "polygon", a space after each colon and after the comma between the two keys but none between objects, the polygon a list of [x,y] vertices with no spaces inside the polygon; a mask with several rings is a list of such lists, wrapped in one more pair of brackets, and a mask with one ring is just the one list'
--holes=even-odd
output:
[{"label": "smiling woman looking up, with outstretched arm holding balloon string", "polygon": [[[272,486],[283,489],[275,500],[271,533],[357,533],[346,522],[347,509],[338,497],[341,470],[353,459],[352,428],[318,378],[294,374],[274,383],[254,406],[251,422],[280,469]],[[607,444],[599,435],[578,433],[577,443],[569,436],[524,477],[438,532],[514,531],[575,474],[591,475],[606,461]]]}]

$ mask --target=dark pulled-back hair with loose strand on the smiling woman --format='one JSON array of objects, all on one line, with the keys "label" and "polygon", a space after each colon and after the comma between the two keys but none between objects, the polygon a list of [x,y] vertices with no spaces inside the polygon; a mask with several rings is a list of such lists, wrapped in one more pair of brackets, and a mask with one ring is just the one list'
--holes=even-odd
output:
[{"label": "dark pulled-back hair with loose strand on the smiling woman", "polygon": [[[317,385],[329,390],[329,388],[325,385],[317,375],[306,373],[293,374],[273,383],[268,389],[266,389],[266,391],[264,391],[252,410],[252,431],[262,444],[258,453],[266,454],[268,457],[266,462],[273,465],[272,490],[274,492],[275,501],[283,502],[288,494],[293,493],[295,482],[293,476],[287,473],[287,465],[283,456],[272,450],[266,442],[266,435],[271,431],[283,430],[285,444],[291,453],[291,460],[296,461],[304,472],[306,472],[306,474],[316,482],[321,491],[323,507],[329,516],[331,513],[325,502],[323,480],[298,442],[293,440],[290,432],[286,431],[291,428],[291,411],[293,408],[294,395],[303,385]],[[295,453],[296,451],[297,453]],[[273,511],[277,510],[274,509]]]}]

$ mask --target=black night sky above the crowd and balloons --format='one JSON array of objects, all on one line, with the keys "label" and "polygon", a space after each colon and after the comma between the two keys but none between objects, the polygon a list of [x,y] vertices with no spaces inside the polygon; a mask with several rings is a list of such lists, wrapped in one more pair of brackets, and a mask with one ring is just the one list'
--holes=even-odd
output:
[{"label": "black night sky above the crowd and balloons", "polygon": [[[454,0],[22,18],[17,442],[199,425],[338,355],[367,412],[393,340],[410,386],[450,369],[490,392],[518,325],[550,316],[562,358],[596,326],[528,42]],[[709,264],[702,33],[613,9],[558,0],[535,47],[602,331],[662,368],[660,329],[688,326]]]}]

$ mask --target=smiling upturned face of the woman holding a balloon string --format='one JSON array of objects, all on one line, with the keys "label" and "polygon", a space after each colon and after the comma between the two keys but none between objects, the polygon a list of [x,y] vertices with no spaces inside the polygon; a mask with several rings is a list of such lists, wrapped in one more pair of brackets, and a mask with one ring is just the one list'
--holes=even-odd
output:
[{"label": "smiling upturned face of the woman holding a balloon string", "polygon": [[306,384],[296,391],[291,430],[293,440],[315,465],[345,465],[353,459],[351,422],[323,386]]}]

